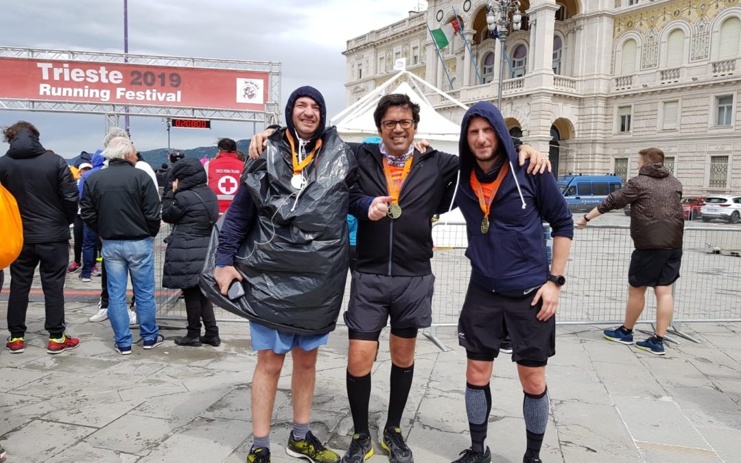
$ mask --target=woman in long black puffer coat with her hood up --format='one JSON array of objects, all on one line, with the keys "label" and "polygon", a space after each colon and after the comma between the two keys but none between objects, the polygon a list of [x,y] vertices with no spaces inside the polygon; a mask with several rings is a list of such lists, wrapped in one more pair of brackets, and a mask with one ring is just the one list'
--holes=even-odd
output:
[{"label": "woman in long black puffer coat with her hood up", "polygon": [[[177,161],[170,170],[170,178],[173,185],[162,198],[162,220],[175,227],[165,239],[162,286],[183,290],[187,312],[187,336],[176,338],[175,344],[218,346],[221,340],[213,304],[201,293],[198,281],[211,229],[219,219],[219,202],[206,184],[206,171],[198,159]],[[201,319],[205,336],[201,336]]]}]

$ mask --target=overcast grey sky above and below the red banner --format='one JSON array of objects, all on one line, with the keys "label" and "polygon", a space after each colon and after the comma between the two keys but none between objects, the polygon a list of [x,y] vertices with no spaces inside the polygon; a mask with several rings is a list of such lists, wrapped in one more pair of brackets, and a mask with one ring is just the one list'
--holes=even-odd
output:
[{"label": "overcast grey sky above and below the red banner", "polygon": [[[4,2],[0,45],[122,53],[123,0]],[[312,85],[325,96],[328,117],[345,108],[346,41],[404,19],[418,0],[128,0],[129,53],[282,63],[281,108],[290,92]],[[2,70],[0,70],[2,72]],[[33,122],[41,143],[64,157],[93,151],[104,116],[0,110],[0,126]],[[123,118],[121,118],[123,125]],[[213,121],[211,130],[172,129],[173,148],[245,139],[252,123]],[[258,127],[259,130],[259,127]],[[139,150],[167,147],[159,118],[132,116]],[[0,145],[0,154],[7,144]]]}]

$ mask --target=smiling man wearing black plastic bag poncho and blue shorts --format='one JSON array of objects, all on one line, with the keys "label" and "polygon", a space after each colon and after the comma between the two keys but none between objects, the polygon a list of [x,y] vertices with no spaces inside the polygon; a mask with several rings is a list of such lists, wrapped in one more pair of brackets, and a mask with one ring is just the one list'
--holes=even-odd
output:
[{"label": "smiling man wearing black plastic bag poncho and blue shorts", "polygon": [[336,130],[325,130],[318,90],[294,91],[285,114],[288,127],[276,130],[262,156],[245,166],[219,234],[214,278],[224,295],[242,282],[245,296],[230,304],[250,319],[258,351],[247,462],[270,462],[270,418],[290,351],[293,430],[286,452],[336,463],[339,456],[312,435],[309,419],[317,350],[335,327],[345,290],[355,158]]}]

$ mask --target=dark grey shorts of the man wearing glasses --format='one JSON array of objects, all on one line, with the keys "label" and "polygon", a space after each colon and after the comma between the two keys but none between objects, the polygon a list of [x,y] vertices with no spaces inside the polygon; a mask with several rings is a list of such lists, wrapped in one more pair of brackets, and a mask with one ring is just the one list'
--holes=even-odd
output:
[{"label": "dark grey shorts of the man wearing glasses", "polygon": [[433,274],[385,276],[353,272],[350,304],[345,312],[350,339],[378,339],[389,317],[392,330],[429,327],[434,287]]}]

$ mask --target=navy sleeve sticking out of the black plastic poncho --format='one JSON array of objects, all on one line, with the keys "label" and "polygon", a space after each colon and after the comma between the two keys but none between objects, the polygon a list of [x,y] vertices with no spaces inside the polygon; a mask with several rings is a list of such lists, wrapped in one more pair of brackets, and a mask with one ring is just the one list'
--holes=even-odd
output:
[{"label": "navy sleeve sticking out of the black plastic poncho", "polygon": [[216,251],[216,265],[233,265],[239,244],[247,236],[257,220],[257,207],[244,185],[239,188],[224,215],[219,232],[219,248]]}]

